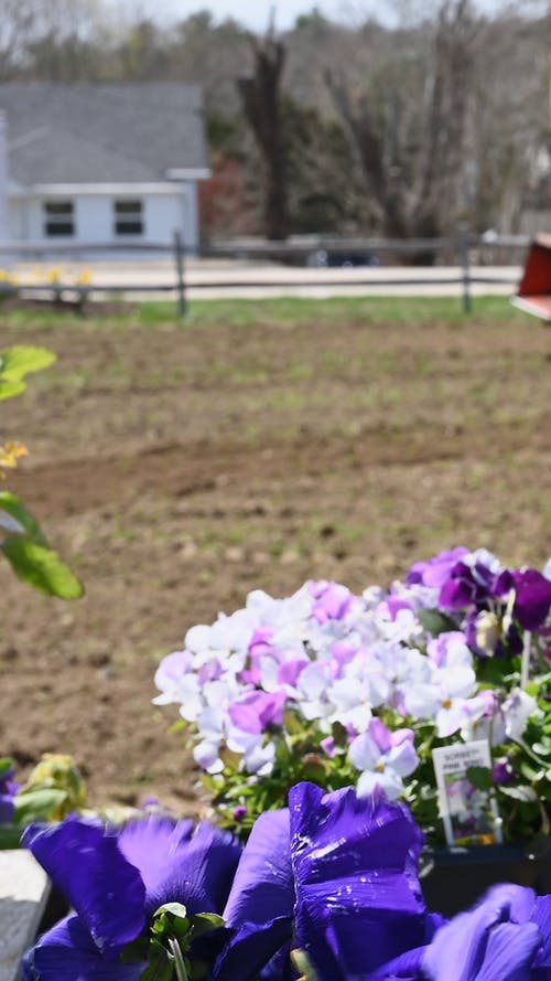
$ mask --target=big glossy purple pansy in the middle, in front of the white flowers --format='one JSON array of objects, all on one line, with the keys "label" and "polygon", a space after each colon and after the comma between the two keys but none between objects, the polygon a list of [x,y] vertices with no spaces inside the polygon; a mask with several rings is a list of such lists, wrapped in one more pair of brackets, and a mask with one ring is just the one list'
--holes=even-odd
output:
[{"label": "big glossy purple pansy in the middle, in front of the white flowers", "polygon": [[292,942],[318,981],[344,981],[424,943],[421,846],[407,808],[381,795],[293,787],[289,809],[264,812],[252,829],[224,911],[233,937],[214,977],[248,981]]}]

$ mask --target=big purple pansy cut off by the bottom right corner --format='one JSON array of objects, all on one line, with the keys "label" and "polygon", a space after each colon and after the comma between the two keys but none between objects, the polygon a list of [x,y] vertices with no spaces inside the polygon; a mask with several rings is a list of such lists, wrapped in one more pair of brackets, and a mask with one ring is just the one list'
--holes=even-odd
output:
[{"label": "big purple pansy cut off by the bottom right corner", "polygon": [[489,889],[468,910],[367,981],[549,981],[551,896],[523,886]]}]

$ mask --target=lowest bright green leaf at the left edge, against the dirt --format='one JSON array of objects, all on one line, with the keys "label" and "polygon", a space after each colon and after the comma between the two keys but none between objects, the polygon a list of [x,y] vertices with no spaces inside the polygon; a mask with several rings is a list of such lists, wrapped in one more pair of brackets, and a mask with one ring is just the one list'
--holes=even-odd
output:
[{"label": "lowest bright green leaf at the left edge, against the dirt", "polygon": [[23,583],[61,599],[83,596],[83,584],[53,548],[24,535],[8,535],[0,547]]}]

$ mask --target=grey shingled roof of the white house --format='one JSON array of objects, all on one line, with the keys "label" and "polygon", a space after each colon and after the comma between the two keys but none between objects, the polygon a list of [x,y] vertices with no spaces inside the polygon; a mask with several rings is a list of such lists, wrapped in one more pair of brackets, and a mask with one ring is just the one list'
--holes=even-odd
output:
[{"label": "grey shingled roof of the white house", "polygon": [[196,85],[0,85],[11,180],[145,183],[206,171]]}]

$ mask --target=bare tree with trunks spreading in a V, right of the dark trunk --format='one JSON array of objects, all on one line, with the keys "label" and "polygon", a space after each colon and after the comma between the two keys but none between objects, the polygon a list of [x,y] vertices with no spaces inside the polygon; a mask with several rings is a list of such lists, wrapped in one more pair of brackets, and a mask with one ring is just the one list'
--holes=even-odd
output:
[{"label": "bare tree with trunks spreading in a V, right of the dark trunk", "polygon": [[[477,30],[471,0],[444,0],[426,52],[422,30],[410,29],[395,34],[393,55],[356,86],[343,72],[325,72],[375,223],[388,237],[435,236],[461,213]],[[377,25],[367,31],[380,39]]]}]

